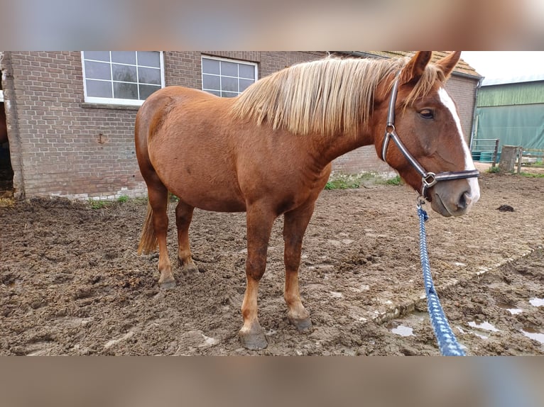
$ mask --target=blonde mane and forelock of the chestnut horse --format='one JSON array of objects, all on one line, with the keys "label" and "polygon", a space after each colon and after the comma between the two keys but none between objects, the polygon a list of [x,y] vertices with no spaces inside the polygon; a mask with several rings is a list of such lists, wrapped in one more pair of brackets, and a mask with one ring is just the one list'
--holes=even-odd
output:
[{"label": "blonde mane and forelock of the chestnut horse", "polygon": [[[357,135],[369,123],[378,84],[406,62],[327,57],[293,65],[252,84],[236,98],[232,113],[299,135]],[[444,74],[429,65],[405,104],[428,94],[437,79]]]}]

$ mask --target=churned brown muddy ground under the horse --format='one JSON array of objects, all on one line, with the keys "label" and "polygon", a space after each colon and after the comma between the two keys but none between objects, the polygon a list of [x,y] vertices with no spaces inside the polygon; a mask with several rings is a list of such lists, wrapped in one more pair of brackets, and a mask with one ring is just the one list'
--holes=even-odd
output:
[{"label": "churned brown muddy ground under the horse", "polygon": [[[483,174],[480,184],[469,215],[429,210],[442,306],[469,355],[544,355],[544,179]],[[178,285],[166,291],[157,286],[157,255],[136,255],[145,213],[144,200],[1,207],[0,355],[439,355],[407,186],[322,192],[300,269],[308,333],[285,315],[278,219],[259,294],[268,348],[259,352],[243,349],[237,336],[244,213],[195,211],[200,273],[187,280],[176,265]]]}]

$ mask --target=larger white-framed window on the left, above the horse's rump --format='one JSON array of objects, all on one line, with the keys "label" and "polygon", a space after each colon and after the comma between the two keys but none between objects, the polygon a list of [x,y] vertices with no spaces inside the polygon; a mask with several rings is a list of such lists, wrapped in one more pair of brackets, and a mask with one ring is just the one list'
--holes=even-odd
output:
[{"label": "larger white-framed window on the left, above the horse's rump", "polygon": [[82,51],[85,101],[141,105],[164,87],[162,51]]}]

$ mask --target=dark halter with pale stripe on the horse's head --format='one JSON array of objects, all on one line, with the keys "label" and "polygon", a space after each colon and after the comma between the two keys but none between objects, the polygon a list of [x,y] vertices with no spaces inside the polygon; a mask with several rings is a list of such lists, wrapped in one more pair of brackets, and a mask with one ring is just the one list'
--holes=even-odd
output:
[{"label": "dark halter with pale stripe on the horse's head", "polygon": [[401,139],[398,138],[398,135],[395,130],[395,124],[394,124],[395,123],[395,103],[397,99],[398,82],[399,82],[399,76],[397,74],[395,82],[393,83],[393,89],[391,90],[391,99],[389,99],[386,135],[385,135],[385,138],[383,138],[383,144],[381,145],[381,160],[387,162],[386,160],[387,147],[389,145],[389,139],[392,139],[397,145],[398,149],[401,150],[404,157],[406,157],[406,160],[408,160],[408,162],[410,162],[410,165],[412,165],[412,167],[414,167],[415,170],[420,174],[421,182],[423,184],[420,195],[423,196],[423,198],[425,199],[428,199],[428,197],[426,196],[427,190],[439,181],[451,181],[452,179],[465,179],[465,178],[479,177],[479,171],[477,169],[467,169],[464,171],[439,172],[438,174],[435,174],[434,172],[427,172],[420,165],[420,163],[417,160],[415,160],[413,155],[411,155],[410,152],[406,149],[406,146],[403,145],[403,143],[401,142]]}]

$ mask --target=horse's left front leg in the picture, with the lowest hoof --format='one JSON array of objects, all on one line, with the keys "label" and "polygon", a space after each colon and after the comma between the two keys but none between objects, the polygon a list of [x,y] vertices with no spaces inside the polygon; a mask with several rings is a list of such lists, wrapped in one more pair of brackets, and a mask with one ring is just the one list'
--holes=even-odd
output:
[{"label": "horse's left front leg in the picture, with the lowest hoof", "polygon": [[247,208],[247,260],[246,294],[241,305],[244,325],[241,327],[240,342],[249,350],[261,350],[268,346],[264,330],[257,316],[259,281],[266,268],[266,252],[272,225],[276,215],[261,206]]}]

